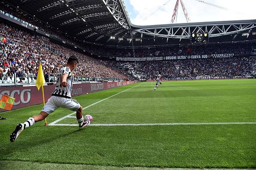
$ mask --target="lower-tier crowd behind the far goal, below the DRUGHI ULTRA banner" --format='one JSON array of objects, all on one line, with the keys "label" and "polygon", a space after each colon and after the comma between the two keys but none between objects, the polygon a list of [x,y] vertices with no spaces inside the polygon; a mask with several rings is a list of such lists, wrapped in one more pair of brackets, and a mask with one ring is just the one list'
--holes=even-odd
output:
[{"label": "lower-tier crowd behind the far goal, below the DRUGHI ULTRA banner", "polygon": [[159,72],[164,78],[256,77],[256,56],[217,59],[186,59],[169,61],[119,62],[128,73],[140,79],[154,79]]}]

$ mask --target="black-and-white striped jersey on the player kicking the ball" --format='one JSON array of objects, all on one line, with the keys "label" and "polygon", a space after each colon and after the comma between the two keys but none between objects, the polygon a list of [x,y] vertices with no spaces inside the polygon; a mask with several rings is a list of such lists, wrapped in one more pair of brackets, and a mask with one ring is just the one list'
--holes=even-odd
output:
[{"label": "black-and-white striped jersey on the player kicking the ball", "polygon": [[[63,87],[61,85],[62,82],[62,75],[66,73],[68,74],[67,77],[67,87]],[[73,76],[70,68],[68,67],[63,67],[59,70],[59,73],[56,77],[56,87],[55,90],[52,93],[52,96],[59,96],[59,97],[65,97],[68,99],[71,99],[71,90],[72,90],[72,85],[73,85]]]}]

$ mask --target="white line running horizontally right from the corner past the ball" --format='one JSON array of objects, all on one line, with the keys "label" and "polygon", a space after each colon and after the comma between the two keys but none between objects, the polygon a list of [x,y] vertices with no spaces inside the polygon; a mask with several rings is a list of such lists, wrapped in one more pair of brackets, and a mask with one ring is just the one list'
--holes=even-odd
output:
[{"label": "white line running horizontally right from the corner past the ball", "polygon": [[[256,122],[206,122],[206,123],[159,123],[159,124],[90,124],[90,126],[174,126],[174,125],[222,125],[256,124]],[[78,126],[78,124],[53,124],[52,126]]]}]

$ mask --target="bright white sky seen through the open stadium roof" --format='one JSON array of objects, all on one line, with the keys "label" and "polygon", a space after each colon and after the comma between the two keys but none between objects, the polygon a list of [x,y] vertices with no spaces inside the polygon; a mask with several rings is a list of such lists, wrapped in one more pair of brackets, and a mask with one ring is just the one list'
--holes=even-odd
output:
[{"label": "bright white sky seen through the open stadium roof", "polygon": [[[134,25],[170,24],[176,0],[124,0]],[[223,7],[207,5],[197,0],[183,0],[191,22],[211,22],[256,19],[256,0],[204,0]],[[181,4],[177,23],[185,23]]]}]

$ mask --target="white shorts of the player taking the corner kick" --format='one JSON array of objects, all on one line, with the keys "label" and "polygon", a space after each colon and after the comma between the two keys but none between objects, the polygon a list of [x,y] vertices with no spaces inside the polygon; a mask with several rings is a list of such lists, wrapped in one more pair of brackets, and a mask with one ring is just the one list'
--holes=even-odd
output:
[{"label": "white shorts of the player taking the corner kick", "polygon": [[50,114],[57,108],[67,108],[72,111],[77,111],[78,108],[80,108],[80,104],[74,99],[51,96],[47,103],[44,105],[42,111]]}]

